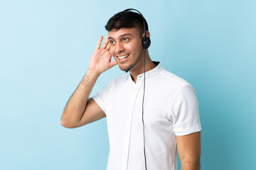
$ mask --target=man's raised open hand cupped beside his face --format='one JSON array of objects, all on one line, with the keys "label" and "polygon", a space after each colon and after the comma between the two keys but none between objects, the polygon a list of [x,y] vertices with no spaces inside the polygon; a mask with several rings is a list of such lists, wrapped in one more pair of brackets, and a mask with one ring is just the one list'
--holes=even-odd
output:
[{"label": "man's raised open hand cupped beside his face", "polygon": [[89,62],[88,69],[92,69],[95,72],[102,73],[105,72],[107,69],[112,68],[114,65],[117,64],[117,61],[111,62],[111,54],[110,54],[110,44],[106,38],[102,44],[103,36],[100,36],[99,41],[97,42],[97,47],[92,54],[92,57]]}]

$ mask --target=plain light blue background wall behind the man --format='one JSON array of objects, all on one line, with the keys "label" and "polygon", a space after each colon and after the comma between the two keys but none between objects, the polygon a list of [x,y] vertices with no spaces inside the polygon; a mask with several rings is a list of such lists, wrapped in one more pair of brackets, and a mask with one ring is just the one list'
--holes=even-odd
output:
[{"label": "plain light blue background wall behind the man", "polygon": [[[201,169],[256,169],[256,3],[201,1],[0,2],[0,169],[106,169],[106,120],[60,125],[108,19],[144,14],[152,60],[196,89]],[[124,72],[102,74],[91,94]]]}]

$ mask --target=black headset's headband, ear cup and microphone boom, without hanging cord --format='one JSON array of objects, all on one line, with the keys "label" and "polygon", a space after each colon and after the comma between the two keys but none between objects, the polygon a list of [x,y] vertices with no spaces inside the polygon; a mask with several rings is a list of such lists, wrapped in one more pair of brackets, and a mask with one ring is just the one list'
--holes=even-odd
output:
[{"label": "black headset's headband, ear cup and microphone boom, without hanging cord", "polygon": [[[137,11],[139,13],[140,16],[142,16],[142,13],[140,13],[137,9],[134,9],[134,8],[127,8],[125,9],[124,11]],[[123,11],[123,12],[124,12]],[[146,30],[149,30],[148,28],[148,24],[146,23],[146,19],[144,18],[144,16],[142,16],[142,20],[143,20],[143,26],[144,26],[144,38],[142,38],[142,50],[146,50],[149,48],[150,44],[151,44],[151,40],[149,37],[146,36]],[[146,27],[147,26],[147,27]],[[142,50],[141,52],[139,53],[139,57],[142,53]],[[137,62],[139,61],[139,58],[137,60]],[[135,64],[137,64],[137,62],[135,62],[132,67],[134,67]],[[129,67],[128,69],[125,70],[125,72],[129,72],[130,69],[132,69],[132,67]]]}]

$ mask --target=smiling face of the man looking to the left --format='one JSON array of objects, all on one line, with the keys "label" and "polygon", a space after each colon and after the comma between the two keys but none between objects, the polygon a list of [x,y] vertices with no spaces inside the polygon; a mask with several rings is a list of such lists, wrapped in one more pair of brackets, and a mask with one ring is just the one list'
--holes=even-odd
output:
[{"label": "smiling face of the man looking to the left", "polygon": [[124,71],[137,62],[139,52],[142,50],[142,35],[137,28],[110,30],[108,40],[110,53],[121,70]]}]

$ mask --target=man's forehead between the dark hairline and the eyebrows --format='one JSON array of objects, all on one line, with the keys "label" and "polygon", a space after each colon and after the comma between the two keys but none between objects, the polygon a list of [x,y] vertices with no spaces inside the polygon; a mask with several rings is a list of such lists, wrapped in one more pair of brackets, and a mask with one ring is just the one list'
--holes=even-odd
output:
[{"label": "man's forehead between the dark hairline and the eyebrows", "polygon": [[109,38],[120,38],[122,35],[138,36],[139,32],[136,28],[120,28],[119,30],[110,30],[108,32]]}]

